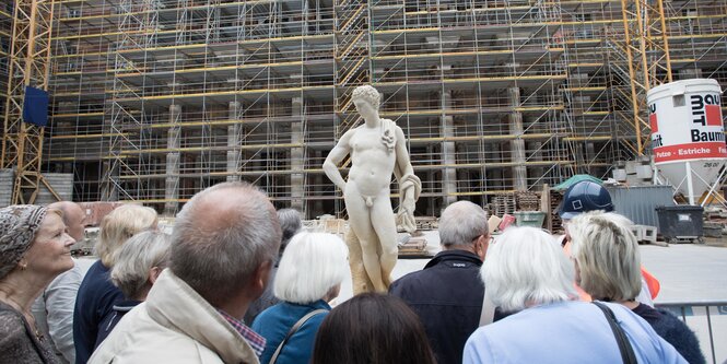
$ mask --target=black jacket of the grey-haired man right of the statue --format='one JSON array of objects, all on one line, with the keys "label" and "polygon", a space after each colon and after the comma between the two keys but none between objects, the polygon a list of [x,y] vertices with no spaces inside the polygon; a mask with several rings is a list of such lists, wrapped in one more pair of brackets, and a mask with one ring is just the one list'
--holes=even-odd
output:
[{"label": "black jacket of the grey-haired man right of the statue", "polygon": [[[465,343],[478,328],[484,295],[481,266],[472,253],[445,250],[389,287],[419,315],[437,363],[461,363]],[[495,319],[500,316],[495,313]]]}]

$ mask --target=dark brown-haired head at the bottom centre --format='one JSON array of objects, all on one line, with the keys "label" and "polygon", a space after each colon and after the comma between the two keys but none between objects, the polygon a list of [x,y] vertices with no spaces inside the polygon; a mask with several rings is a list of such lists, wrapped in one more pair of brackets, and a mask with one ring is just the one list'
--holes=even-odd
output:
[{"label": "dark brown-haired head at the bottom centre", "polygon": [[433,364],[419,316],[398,297],[364,293],[340,304],[318,328],[313,364]]}]

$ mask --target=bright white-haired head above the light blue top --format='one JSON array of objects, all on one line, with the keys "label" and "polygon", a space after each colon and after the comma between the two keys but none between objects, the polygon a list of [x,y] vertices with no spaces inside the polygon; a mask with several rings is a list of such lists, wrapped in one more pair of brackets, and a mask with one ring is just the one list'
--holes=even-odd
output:
[{"label": "bright white-haired head above the light blue top", "polygon": [[485,294],[505,312],[577,296],[573,263],[540,228],[508,227],[490,247],[481,275]]}]

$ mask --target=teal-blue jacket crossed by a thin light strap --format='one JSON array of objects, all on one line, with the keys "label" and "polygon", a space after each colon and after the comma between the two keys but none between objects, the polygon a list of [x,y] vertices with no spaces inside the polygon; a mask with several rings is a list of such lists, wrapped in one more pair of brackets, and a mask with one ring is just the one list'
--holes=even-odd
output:
[{"label": "teal-blue jacket crossed by a thin light strap", "polygon": [[[257,316],[253,322],[253,330],[266,339],[265,351],[260,355],[260,364],[268,364],[278,345],[285,339],[288,331],[303,316],[312,310],[323,308],[330,310],[330,306],[323,300],[309,305],[296,305],[281,302]],[[277,364],[300,364],[310,362],[313,345],[318,327],[328,313],[310,317],[301,328],[288,339],[288,343],[278,356]]]}]

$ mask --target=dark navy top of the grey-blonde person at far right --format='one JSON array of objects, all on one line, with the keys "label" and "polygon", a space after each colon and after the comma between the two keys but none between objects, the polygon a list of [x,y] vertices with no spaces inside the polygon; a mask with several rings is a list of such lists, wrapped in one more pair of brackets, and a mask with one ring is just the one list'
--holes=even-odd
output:
[{"label": "dark navy top of the grey-blonde person at far right", "polygon": [[646,320],[664,340],[675,347],[690,364],[706,363],[700,349],[700,341],[682,320],[668,310],[652,308],[644,304],[638,304],[632,310]]}]

